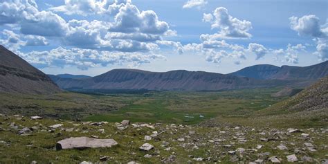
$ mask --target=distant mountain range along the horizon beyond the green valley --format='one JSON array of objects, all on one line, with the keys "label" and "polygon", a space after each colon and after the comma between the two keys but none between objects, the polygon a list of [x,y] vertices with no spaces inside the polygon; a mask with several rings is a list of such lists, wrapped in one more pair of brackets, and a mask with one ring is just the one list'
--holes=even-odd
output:
[{"label": "distant mountain range along the horizon beyond the green valley", "polygon": [[114,69],[90,78],[60,78],[55,75],[50,77],[62,89],[69,90],[217,91],[273,86],[302,88],[327,75],[328,62],[305,67],[255,65],[226,75],[185,70],[159,73],[136,69]]}]

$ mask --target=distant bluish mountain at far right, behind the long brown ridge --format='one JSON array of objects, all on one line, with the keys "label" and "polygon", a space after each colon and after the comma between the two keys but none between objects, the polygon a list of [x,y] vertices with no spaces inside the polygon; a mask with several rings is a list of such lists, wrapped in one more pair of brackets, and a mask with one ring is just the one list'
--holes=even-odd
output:
[{"label": "distant bluish mountain at far right, behind the long brown ridge", "polygon": [[328,61],[313,66],[255,65],[230,73],[239,77],[271,80],[318,80],[328,75]]}]

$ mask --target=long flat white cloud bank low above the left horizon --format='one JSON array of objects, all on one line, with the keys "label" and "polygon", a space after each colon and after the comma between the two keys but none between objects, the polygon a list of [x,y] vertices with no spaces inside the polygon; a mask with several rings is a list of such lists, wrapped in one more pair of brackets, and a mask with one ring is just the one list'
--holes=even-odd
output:
[{"label": "long flat white cloud bank low above the left horizon", "polygon": [[19,55],[39,68],[48,66],[77,66],[78,69],[82,70],[95,66],[107,66],[108,64],[139,66],[140,64],[149,63],[152,60],[165,59],[163,55],[153,53],[114,53],[111,51],[62,47],[55,48],[51,51],[19,53]]}]

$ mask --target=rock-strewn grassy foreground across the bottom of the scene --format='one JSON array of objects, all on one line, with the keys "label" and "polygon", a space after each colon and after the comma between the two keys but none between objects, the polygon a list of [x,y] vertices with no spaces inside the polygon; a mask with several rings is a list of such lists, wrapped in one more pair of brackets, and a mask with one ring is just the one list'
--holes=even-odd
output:
[{"label": "rock-strewn grassy foreground across the bottom of the scene", "polygon": [[327,134],[0,115],[0,163],[328,163]]}]

